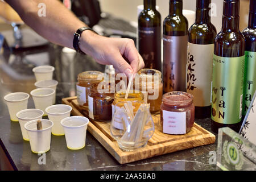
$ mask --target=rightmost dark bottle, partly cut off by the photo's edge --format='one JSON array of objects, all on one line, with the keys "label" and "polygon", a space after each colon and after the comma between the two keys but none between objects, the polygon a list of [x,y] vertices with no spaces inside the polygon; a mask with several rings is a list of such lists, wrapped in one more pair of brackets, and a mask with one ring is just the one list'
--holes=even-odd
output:
[{"label": "rightmost dark bottle, partly cut off by the photo's edge", "polygon": [[256,1],[250,1],[248,27],[245,36],[245,85],[243,90],[243,113],[245,116],[256,89]]}]

